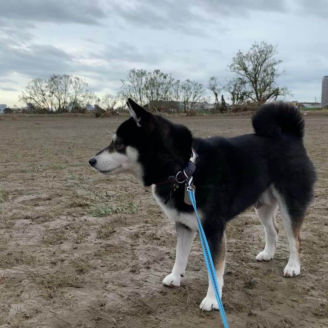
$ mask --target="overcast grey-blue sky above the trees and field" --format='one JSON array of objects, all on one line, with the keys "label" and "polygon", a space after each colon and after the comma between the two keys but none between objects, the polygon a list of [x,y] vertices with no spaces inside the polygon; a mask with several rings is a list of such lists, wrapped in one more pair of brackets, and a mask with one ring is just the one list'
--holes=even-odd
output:
[{"label": "overcast grey-blue sky above the trees and field", "polygon": [[293,96],[320,101],[328,75],[328,0],[0,1],[0,104],[18,105],[34,77],[83,77],[115,93],[131,68],[223,84],[240,49],[277,44]]}]

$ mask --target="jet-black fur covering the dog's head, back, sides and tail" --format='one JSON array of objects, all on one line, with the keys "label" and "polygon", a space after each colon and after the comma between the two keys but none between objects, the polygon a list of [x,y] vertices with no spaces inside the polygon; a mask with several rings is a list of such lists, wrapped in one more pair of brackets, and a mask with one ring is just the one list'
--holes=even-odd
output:
[{"label": "jet-black fur covering the dog's head, back, sides and tail", "polygon": [[[270,186],[283,199],[292,225],[300,227],[312,197],[315,171],[302,141],[304,118],[296,107],[283,102],[261,106],[253,117],[253,134],[194,138],[185,126],[153,115],[131,99],[128,105],[134,118],[119,126],[115,141],[105,150],[125,154],[127,146],[135,148],[143,183],[150,186],[183,170],[191,148],[195,149],[197,208],[203,214],[214,260],[226,222],[252,204],[261,206],[261,195]],[[154,193],[164,201],[171,188],[170,183],[159,184]],[[193,212],[184,202],[183,186],[172,194],[167,206],[178,213]],[[297,234],[295,238],[299,238]]]}]

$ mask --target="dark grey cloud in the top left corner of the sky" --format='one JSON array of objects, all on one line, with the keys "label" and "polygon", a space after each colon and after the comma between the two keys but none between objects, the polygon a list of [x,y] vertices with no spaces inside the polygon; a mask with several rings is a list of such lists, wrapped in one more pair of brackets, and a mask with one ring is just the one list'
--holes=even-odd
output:
[{"label": "dark grey cloud in the top left corner of the sky", "polygon": [[0,16],[7,20],[95,25],[107,15],[99,1],[10,0],[0,2]]}]

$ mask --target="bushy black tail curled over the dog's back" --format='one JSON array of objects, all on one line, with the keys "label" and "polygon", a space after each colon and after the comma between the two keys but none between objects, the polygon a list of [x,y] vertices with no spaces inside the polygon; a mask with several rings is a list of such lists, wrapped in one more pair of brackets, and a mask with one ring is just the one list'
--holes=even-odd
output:
[{"label": "bushy black tail curled over the dog's back", "polygon": [[299,139],[304,135],[303,114],[286,102],[274,102],[262,105],[254,114],[255,133],[266,137],[279,137],[282,133],[294,135]]}]

